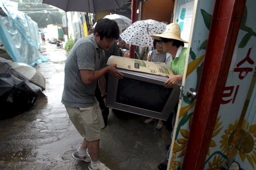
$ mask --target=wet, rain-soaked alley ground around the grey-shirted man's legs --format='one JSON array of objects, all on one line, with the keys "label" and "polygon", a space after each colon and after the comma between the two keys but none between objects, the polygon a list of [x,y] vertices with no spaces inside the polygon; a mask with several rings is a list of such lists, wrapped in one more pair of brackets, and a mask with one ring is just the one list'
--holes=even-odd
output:
[{"label": "wet, rain-soaked alley ground around the grey-shirted man's legs", "polygon": [[[72,158],[82,137],[61,103],[66,51],[47,42],[41,51],[49,61],[35,67],[46,79],[46,90],[39,93],[33,109],[0,121],[0,169],[89,170],[89,163]],[[159,130],[157,122],[144,124],[145,119],[110,109],[99,160],[112,170],[158,170],[166,159],[171,132],[166,122]]]}]

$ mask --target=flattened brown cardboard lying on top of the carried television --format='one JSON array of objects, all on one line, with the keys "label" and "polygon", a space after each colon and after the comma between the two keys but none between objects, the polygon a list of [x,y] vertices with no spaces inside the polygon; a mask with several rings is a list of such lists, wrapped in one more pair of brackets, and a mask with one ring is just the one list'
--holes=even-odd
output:
[{"label": "flattened brown cardboard lying on top of the carried television", "polygon": [[144,61],[112,55],[108,58],[107,62],[107,65],[110,64],[117,64],[117,68],[125,70],[156,74],[164,77],[166,77],[165,74],[174,75],[171,69],[161,62]]}]

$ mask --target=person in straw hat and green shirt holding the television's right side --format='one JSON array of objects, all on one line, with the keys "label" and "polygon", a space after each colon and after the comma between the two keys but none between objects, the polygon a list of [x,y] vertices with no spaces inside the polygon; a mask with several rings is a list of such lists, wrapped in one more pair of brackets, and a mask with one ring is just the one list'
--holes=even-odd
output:
[{"label": "person in straw hat and green shirt holding the television's right side", "polygon": [[[151,35],[151,37],[161,40],[163,51],[166,53],[170,53],[174,57],[174,59],[169,63],[169,67],[174,72],[174,75],[166,74],[166,76],[168,76],[169,79],[164,83],[164,87],[171,88],[172,86],[176,85],[179,81],[182,81],[187,55],[187,48],[184,48],[184,42],[188,42],[181,39],[181,28],[176,23],[169,24],[162,34]],[[174,113],[172,119],[173,128],[175,125],[177,108],[178,103],[176,104],[174,110],[172,111]],[[171,138],[172,136],[173,131],[171,133]],[[170,148],[166,155],[167,160],[164,160],[164,162],[158,165],[159,170],[167,170]]]}]

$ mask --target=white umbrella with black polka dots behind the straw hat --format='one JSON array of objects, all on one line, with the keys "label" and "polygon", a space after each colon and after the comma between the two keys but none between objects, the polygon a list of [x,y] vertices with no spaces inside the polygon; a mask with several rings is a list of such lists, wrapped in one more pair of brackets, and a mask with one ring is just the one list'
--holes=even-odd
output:
[{"label": "white umbrella with black polka dots behind the straw hat", "polygon": [[120,35],[126,43],[142,47],[153,46],[154,38],[150,35],[163,33],[167,24],[147,19],[131,24]]}]

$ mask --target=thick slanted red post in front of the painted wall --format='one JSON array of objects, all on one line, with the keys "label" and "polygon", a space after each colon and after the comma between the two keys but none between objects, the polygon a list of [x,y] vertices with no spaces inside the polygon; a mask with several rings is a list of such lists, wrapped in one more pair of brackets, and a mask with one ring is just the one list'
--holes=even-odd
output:
[{"label": "thick slanted red post in front of the painted wall", "polygon": [[220,109],[246,0],[216,0],[181,170],[202,170]]}]

